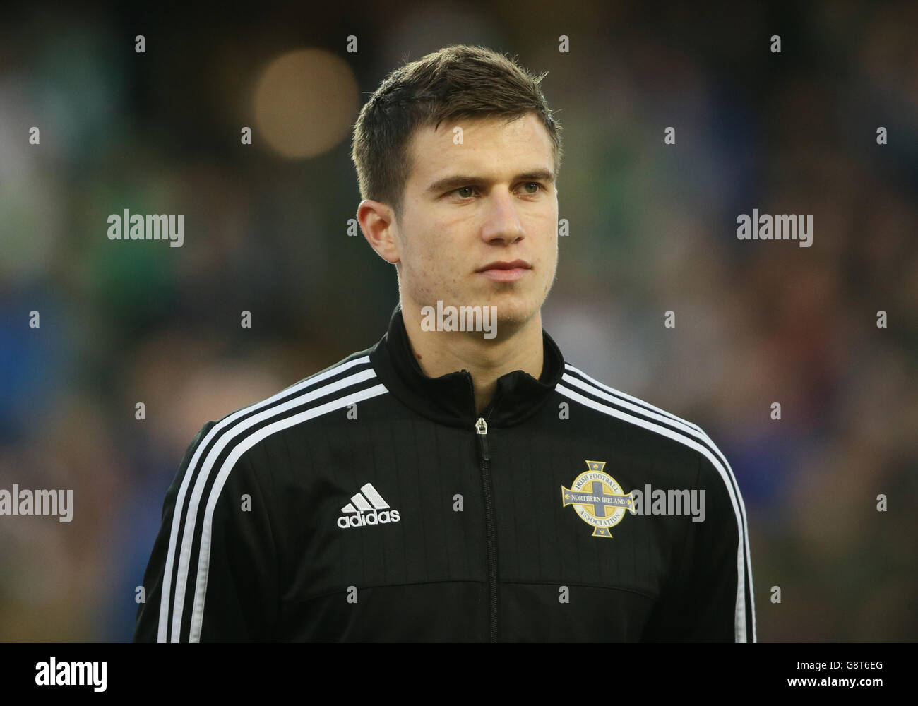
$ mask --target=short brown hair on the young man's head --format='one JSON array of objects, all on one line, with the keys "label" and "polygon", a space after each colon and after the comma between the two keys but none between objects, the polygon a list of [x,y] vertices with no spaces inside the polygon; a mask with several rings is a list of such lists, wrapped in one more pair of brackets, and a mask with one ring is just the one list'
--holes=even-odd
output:
[{"label": "short brown hair on the young man's head", "polygon": [[453,44],[396,69],[370,96],[353,125],[351,159],[361,198],[401,212],[411,174],[409,140],[415,129],[455,118],[507,118],[534,112],[554,146],[554,175],[561,167],[561,123],[539,83],[515,59],[484,47]]}]

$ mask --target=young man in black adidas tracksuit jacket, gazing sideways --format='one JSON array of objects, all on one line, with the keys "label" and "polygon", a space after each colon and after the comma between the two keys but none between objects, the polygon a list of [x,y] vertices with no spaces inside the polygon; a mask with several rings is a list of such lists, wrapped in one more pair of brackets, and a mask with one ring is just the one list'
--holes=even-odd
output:
[{"label": "young man in black adidas tracksuit jacket, gazing sideways", "polygon": [[197,434],[135,640],[755,640],[721,452],[542,329],[561,129],[541,79],[453,46],[364,106],[357,216],[400,306],[372,348]]}]

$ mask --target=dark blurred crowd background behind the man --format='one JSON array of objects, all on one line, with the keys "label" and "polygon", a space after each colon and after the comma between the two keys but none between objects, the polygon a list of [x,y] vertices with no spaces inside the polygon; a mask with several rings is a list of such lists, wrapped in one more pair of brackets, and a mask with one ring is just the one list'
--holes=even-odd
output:
[{"label": "dark blurred crowd background behind the man", "polygon": [[[348,236],[349,126],[452,43],[549,72],[570,235],[545,328],[726,454],[759,640],[915,639],[918,6],[244,8],[4,10],[0,487],[74,510],[0,517],[0,641],[129,640],[196,431],[379,339],[397,286]],[[184,246],[109,241],[124,208],[185,214]],[[812,214],[812,247],[738,241],[753,208]]]}]

